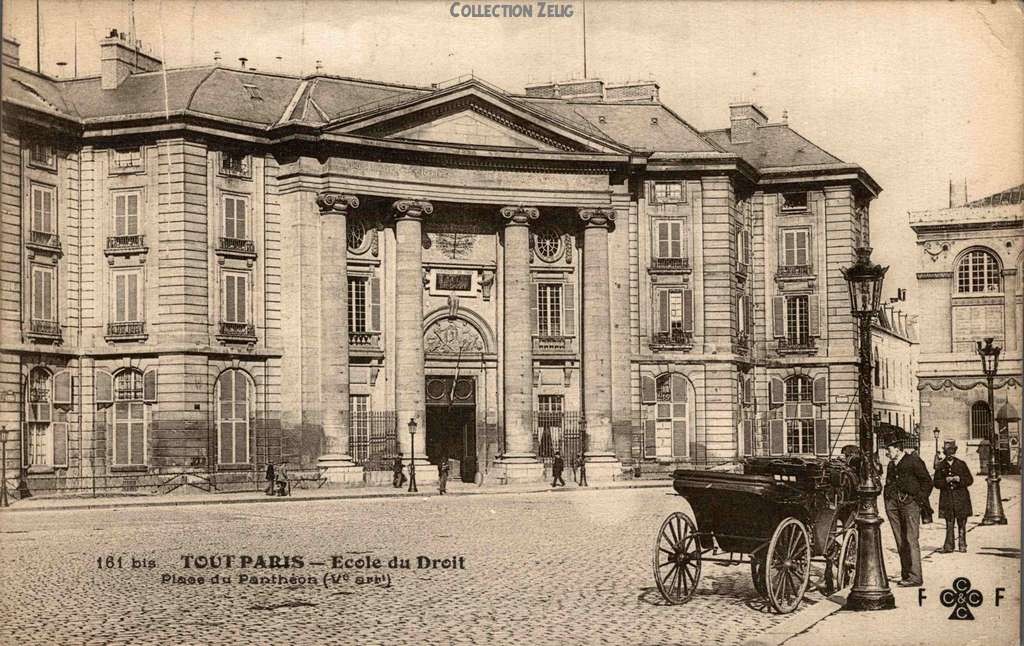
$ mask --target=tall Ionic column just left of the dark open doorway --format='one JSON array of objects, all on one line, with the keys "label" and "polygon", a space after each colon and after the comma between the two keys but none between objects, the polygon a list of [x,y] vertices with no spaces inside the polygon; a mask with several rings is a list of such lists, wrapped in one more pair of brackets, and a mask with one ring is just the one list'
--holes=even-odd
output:
[{"label": "tall Ionic column just left of the dark open doorway", "polygon": [[427,416],[423,368],[423,216],[434,212],[429,202],[399,200],[394,203],[396,243],[394,353],[395,414],[398,446],[407,463],[413,456],[409,421],[416,420],[416,479],[423,485],[437,473],[426,461]]}]

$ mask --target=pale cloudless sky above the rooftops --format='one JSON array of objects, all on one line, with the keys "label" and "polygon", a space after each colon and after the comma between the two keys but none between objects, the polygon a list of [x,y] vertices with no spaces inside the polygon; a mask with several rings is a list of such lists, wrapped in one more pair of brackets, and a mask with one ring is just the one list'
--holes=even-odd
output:
[{"label": "pale cloudless sky above the rooftops", "polygon": [[[500,0],[509,3],[512,0]],[[473,5],[473,2],[461,4]],[[134,32],[168,67],[426,85],[472,73],[509,91],[584,76],[584,3],[572,15],[454,17],[451,0],[39,0],[42,70],[98,73],[99,40]],[[132,10],[134,7],[134,10]],[[873,259],[886,295],[906,288],[920,251],[907,212],[1024,182],[1024,4],[947,2],[586,3],[587,73],[652,78],[662,101],[698,129],[724,128],[730,102],[753,101],[882,185],[871,205]],[[3,0],[3,29],[36,66],[36,0]],[[456,9],[458,12],[458,8]]]}]

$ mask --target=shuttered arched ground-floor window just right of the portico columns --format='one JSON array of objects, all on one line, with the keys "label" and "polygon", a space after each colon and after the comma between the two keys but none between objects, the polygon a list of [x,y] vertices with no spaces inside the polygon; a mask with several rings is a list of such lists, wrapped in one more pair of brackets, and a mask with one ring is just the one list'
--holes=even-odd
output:
[{"label": "shuttered arched ground-floor window just right of the portico columns", "polygon": [[647,377],[645,380],[652,386],[653,397],[648,400],[645,396],[649,405],[644,412],[644,457],[692,457],[693,387],[678,374],[665,374],[655,379]]}]

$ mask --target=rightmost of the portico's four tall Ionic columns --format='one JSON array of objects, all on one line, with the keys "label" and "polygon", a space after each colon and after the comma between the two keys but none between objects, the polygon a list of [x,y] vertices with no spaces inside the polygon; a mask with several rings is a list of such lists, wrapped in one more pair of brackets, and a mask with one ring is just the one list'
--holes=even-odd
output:
[{"label": "rightmost of the portico's four tall Ionic columns", "polygon": [[580,209],[583,233],[583,388],[587,416],[587,479],[622,475],[611,440],[611,318],[608,228],[613,209]]}]

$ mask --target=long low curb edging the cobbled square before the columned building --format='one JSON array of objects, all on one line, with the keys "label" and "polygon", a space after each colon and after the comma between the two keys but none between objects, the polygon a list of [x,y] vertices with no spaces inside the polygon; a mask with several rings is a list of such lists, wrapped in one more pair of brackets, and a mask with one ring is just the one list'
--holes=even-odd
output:
[{"label": "long low curb edging the cobbled square before the columned building", "polygon": [[[594,491],[594,490],[604,490],[604,489],[640,489],[640,488],[654,488],[654,487],[667,487],[671,489],[671,480],[641,480],[641,481],[630,481],[624,480],[621,484],[598,484],[587,487],[572,487],[569,489],[553,489],[551,487],[538,487],[538,488],[527,488],[527,489],[477,489],[477,490],[467,490],[467,491],[450,491],[445,496],[451,496],[454,498],[464,497],[464,496],[511,496],[515,493],[568,493],[570,491]],[[675,491],[672,491],[675,496]],[[229,494],[225,494],[229,496]],[[270,497],[270,496],[254,496],[252,498],[225,498],[225,499],[202,499],[202,500],[188,500],[188,498],[182,498],[180,500],[168,500],[166,497],[154,497],[160,500],[145,501],[145,502],[132,502],[126,504],[123,501],[97,501],[92,503],[82,503],[80,505],[60,505],[53,507],[26,507],[18,508],[8,507],[7,509],[0,510],[0,516],[4,514],[13,513],[32,513],[32,512],[61,512],[61,511],[83,511],[83,510],[93,510],[93,509],[119,509],[127,510],[134,508],[151,508],[151,507],[187,507],[187,506],[203,506],[203,505],[248,505],[248,504],[283,504],[283,503],[305,503],[305,502],[324,502],[324,501],[358,501],[358,500],[380,500],[380,499],[427,499],[427,498],[440,498],[435,491],[424,491],[410,493],[408,491],[380,491],[371,493],[356,493],[356,492],[337,492],[337,493],[323,493],[323,494],[311,494],[311,496],[300,496],[300,497]],[[59,499],[54,499],[59,500]],[[137,498],[133,498],[133,501],[137,501]]]}]

